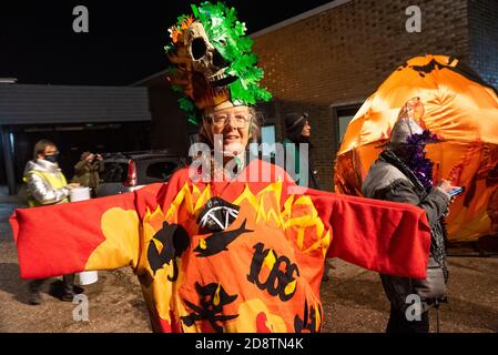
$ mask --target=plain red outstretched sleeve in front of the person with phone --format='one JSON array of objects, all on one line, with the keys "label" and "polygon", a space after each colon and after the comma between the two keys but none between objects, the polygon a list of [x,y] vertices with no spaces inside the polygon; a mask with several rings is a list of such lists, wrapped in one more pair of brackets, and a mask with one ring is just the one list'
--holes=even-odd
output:
[{"label": "plain red outstretched sleeve in front of the person with phone", "polygon": [[424,210],[315,190],[308,193],[333,231],[328,257],[385,274],[426,276],[430,229]]}]

